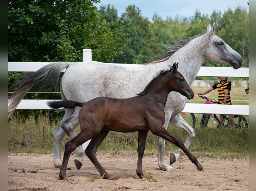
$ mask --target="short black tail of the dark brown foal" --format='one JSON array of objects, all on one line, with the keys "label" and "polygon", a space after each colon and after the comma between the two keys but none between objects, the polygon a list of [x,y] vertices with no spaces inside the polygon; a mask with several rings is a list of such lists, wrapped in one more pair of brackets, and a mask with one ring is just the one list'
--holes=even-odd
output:
[{"label": "short black tail of the dark brown foal", "polygon": [[84,103],[73,100],[61,100],[61,101],[47,101],[46,104],[52,109],[59,109],[64,107],[70,109],[74,107],[82,107]]}]

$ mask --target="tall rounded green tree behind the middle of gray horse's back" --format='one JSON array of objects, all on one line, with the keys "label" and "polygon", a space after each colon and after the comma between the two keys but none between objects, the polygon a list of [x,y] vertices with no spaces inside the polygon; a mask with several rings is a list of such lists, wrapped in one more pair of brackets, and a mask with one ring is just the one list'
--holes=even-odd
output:
[{"label": "tall rounded green tree behind the middle of gray horse's back", "polygon": [[153,61],[152,23],[148,18],[141,16],[141,11],[135,5],[129,5],[126,12],[122,13],[120,21],[129,31],[129,35],[123,40],[127,49],[123,56],[115,58],[116,63],[142,64]]}]

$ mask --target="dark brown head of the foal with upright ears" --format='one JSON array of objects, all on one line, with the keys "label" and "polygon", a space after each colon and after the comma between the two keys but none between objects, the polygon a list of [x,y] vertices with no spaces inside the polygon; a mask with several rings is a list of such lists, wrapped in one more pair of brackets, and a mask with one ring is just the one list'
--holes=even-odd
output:
[{"label": "dark brown head of the foal with upright ears", "polygon": [[172,91],[178,92],[181,95],[186,96],[188,99],[193,99],[194,92],[190,88],[190,86],[187,84],[185,78],[183,75],[177,71],[178,69],[178,63],[174,63],[171,68],[171,72],[173,73],[171,83],[171,89]]}]

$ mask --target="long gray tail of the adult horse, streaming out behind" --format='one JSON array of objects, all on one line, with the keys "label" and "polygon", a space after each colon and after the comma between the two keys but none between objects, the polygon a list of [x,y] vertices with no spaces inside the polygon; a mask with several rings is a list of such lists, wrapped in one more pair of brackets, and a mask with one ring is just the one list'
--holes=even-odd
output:
[{"label": "long gray tail of the adult horse, streaming out behind", "polygon": [[17,105],[26,95],[26,93],[35,85],[45,80],[43,87],[54,87],[55,90],[58,86],[60,72],[68,68],[71,63],[67,62],[53,62],[45,65],[36,72],[26,73],[23,75],[22,80],[14,84],[11,89],[17,88],[8,99],[8,118],[12,115]]}]

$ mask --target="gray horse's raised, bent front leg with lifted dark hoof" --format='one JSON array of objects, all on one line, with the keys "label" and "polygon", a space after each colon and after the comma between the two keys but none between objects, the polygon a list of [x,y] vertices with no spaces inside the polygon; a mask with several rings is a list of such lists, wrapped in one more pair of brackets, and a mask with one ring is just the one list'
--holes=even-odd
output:
[{"label": "gray horse's raised, bent front leg with lifted dark hoof", "polygon": [[[182,129],[187,133],[187,139],[184,142],[184,145],[188,149],[191,142],[195,139],[195,130],[183,119],[183,117],[179,113],[171,116],[170,123],[174,127]],[[171,153],[170,164],[177,161],[183,155],[184,152],[181,149],[179,149],[177,153]]]}]

